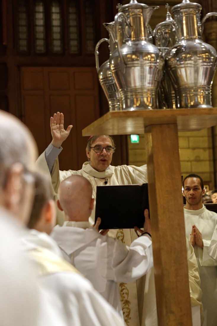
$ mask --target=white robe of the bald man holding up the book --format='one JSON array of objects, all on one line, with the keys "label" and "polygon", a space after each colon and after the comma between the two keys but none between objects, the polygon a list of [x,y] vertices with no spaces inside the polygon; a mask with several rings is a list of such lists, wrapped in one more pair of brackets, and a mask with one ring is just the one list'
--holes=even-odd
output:
[{"label": "white robe of the bald man holding up the book", "polygon": [[132,282],[150,270],[153,266],[151,238],[143,235],[125,246],[88,226],[88,222],[66,221],[63,227],[57,225],[51,236],[64,258],[123,316],[117,283]]}]

